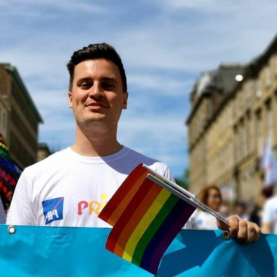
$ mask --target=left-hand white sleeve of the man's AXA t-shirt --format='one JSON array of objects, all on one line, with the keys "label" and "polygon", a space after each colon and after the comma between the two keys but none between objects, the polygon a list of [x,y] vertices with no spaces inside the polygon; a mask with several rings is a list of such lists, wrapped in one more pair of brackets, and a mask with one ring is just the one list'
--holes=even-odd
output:
[{"label": "left-hand white sleeve of the man's AXA t-shirt", "polygon": [[27,190],[30,188],[31,184],[28,184],[27,180],[26,172],[23,171],[12,197],[11,205],[7,213],[6,224],[35,225],[33,209]]}]

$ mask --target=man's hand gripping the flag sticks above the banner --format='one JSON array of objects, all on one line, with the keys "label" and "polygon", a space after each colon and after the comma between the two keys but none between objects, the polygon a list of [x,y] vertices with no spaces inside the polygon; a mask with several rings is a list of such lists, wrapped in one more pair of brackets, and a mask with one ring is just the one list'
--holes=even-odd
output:
[{"label": "man's hand gripping the flag sticks above the banner", "polygon": [[227,220],[230,224],[229,228],[219,220],[217,220],[217,227],[222,230],[229,229],[230,236],[238,242],[249,244],[259,240],[261,228],[256,223],[242,219],[238,215],[231,215]]}]

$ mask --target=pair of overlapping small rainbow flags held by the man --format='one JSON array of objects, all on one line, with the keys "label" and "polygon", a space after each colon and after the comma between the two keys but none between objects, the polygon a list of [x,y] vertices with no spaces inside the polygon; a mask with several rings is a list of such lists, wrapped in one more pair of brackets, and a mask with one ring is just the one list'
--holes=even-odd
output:
[{"label": "pair of overlapping small rainbow flags held by the man", "polygon": [[154,182],[155,177],[150,180],[150,172],[137,166],[99,217],[114,226],[106,249],[156,274],[164,252],[196,208]]}]

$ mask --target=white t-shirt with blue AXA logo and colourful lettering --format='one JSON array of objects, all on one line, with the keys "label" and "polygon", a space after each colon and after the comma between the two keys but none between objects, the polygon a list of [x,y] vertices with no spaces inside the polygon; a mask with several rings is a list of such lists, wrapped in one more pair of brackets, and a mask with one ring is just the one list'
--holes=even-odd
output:
[{"label": "white t-shirt with blue AXA logo and colourful lettering", "polygon": [[103,157],[82,156],[70,148],[52,154],[23,171],[6,223],[111,227],[97,215],[139,163],[174,180],[165,164],[126,147]]}]

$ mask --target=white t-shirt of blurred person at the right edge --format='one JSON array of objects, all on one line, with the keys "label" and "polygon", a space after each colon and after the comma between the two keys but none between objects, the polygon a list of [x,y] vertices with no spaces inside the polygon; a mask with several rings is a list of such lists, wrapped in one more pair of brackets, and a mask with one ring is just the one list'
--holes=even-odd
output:
[{"label": "white t-shirt of blurred person at the right edge", "polygon": [[277,195],[266,201],[262,223],[271,223],[273,233],[277,234]]}]

